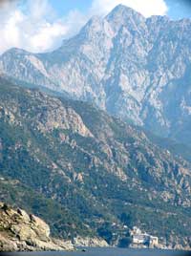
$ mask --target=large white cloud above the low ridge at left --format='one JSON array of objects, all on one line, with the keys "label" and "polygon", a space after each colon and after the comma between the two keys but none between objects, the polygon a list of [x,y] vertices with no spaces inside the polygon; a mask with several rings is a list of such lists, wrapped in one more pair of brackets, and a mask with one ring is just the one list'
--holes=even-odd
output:
[{"label": "large white cloud above the low ridge at left", "polygon": [[25,10],[15,4],[12,8],[11,1],[4,2],[0,9],[0,53],[12,47],[32,53],[53,50],[86,21],[79,11],[56,17],[48,0],[27,0]]}]

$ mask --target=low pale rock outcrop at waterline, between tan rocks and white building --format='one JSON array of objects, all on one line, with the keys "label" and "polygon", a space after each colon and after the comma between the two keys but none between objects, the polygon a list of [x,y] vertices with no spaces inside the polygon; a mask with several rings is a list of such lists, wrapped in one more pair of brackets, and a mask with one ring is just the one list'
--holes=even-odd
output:
[{"label": "low pale rock outcrop at waterline, between tan rocks and white building", "polygon": [[107,242],[101,238],[90,238],[90,237],[76,237],[73,240],[73,244],[77,247],[107,247]]}]

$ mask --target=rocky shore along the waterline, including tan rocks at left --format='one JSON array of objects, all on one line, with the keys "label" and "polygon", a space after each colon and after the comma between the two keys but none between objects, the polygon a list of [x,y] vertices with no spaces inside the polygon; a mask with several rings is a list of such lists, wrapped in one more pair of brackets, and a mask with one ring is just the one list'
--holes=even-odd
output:
[{"label": "rocky shore along the waterline, including tan rocks at left", "polygon": [[[50,236],[50,226],[40,218],[26,211],[14,209],[0,203],[0,251],[42,251],[74,250],[75,247],[107,247],[101,238],[75,237],[72,241],[62,241]],[[131,248],[144,248],[145,245],[131,244]],[[165,243],[151,248],[190,250],[189,243],[180,245]]]}]

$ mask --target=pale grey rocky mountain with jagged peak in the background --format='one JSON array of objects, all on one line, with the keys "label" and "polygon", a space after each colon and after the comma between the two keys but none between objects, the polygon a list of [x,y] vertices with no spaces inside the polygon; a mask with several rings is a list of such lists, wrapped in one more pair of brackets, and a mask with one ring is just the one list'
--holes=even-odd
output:
[{"label": "pale grey rocky mountain with jagged peak in the background", "polygon": [[190,19],[145,19],[119,5],[53,53],[11,49],[0,57],[0,70],[190,145],[190,34]]}]

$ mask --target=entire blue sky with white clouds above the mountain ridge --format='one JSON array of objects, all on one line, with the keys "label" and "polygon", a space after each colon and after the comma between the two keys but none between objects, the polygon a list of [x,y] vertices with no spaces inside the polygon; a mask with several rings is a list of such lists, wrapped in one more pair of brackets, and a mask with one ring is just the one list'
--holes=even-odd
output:
[{"label": "entire blue sky with white clouds above the mountain ridge", "polygon": [[12,47],[52,51],[93,15],[104,16],[118,4],[145,17],[191,18],[191,0],[0,0],[0,53]]}]

